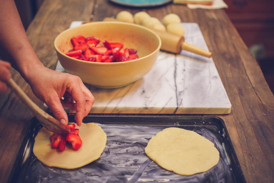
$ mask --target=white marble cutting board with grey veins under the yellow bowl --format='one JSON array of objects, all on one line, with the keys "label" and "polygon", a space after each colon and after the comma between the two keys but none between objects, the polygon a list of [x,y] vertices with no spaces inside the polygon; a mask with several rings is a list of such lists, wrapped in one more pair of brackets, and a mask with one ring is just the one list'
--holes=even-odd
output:
[{"label": "white marble cutting board with grey veins under the yellow bowl", "polygon": [[[74,21],[70,27],[80,24]],[[186,42],[208,50],[198,24],[182,26]],[[59,61],[56,70],[65,72]],[[125,87],[86,86],[95,97],[90,113],[228,114],[231,110],[212,58],[186,51],[177,55],[160,51],[152,70]]]}]

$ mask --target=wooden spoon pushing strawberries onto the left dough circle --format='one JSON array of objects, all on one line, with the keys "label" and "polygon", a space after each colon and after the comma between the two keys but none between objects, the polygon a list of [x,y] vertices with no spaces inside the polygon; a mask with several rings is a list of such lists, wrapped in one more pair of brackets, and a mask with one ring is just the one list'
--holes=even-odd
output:
[{"label": "wooden spoon pushing strawberries onto the left dough circle", "polygon": [[53,118],[51,115],[46,113],[40,107],[38,107],[26,94],[25,92],[10,78],[7,81],[7,85],[17,94],[17,96],[32,110],[36,118],[40,121],[48,131],[60,134],[70,133],[70,129],[58,120]]}]

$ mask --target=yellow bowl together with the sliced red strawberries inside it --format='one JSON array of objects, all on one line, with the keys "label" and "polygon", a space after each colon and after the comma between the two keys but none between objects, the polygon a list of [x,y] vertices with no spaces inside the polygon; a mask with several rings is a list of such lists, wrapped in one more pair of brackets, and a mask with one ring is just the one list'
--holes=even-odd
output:
[{"label": "yellow bowl together with the sliced red strawberries inside it", "polygon": [[93,22],[61,32],[54,46],[68,73],[95,87],[118,88],[152,69],[161,39],[136,24]]}]

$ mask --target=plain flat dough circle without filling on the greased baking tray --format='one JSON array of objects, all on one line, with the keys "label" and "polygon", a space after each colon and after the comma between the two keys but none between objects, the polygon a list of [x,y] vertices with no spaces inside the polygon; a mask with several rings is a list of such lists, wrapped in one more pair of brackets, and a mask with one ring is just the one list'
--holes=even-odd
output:
[{"label": "plain flat dough circle without filling on the greased baking tray", "polygon": [[162,168],[180,175],[206,172],[219,162],[214,144],[196,132],[166,128],[153,136],[145,154]]}]

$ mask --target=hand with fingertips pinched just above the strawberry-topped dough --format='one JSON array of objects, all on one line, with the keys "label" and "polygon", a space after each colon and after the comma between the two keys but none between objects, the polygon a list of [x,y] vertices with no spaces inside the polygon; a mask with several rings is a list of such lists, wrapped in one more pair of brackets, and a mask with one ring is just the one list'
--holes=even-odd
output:
[{"label": "hand with fingertips pinched just above the strawberry-topped dough", "polygon": [[[68,124],[63,107],[76,111],[78,126],[89,113],[94,97],[78,76],[53,71],[44,66],[35,66],[26,78],[33,93],[52,110],[55,118]],[[61,99],[64,96],[64,99]],[[74,103],[75,101],[76,103]]]}]

